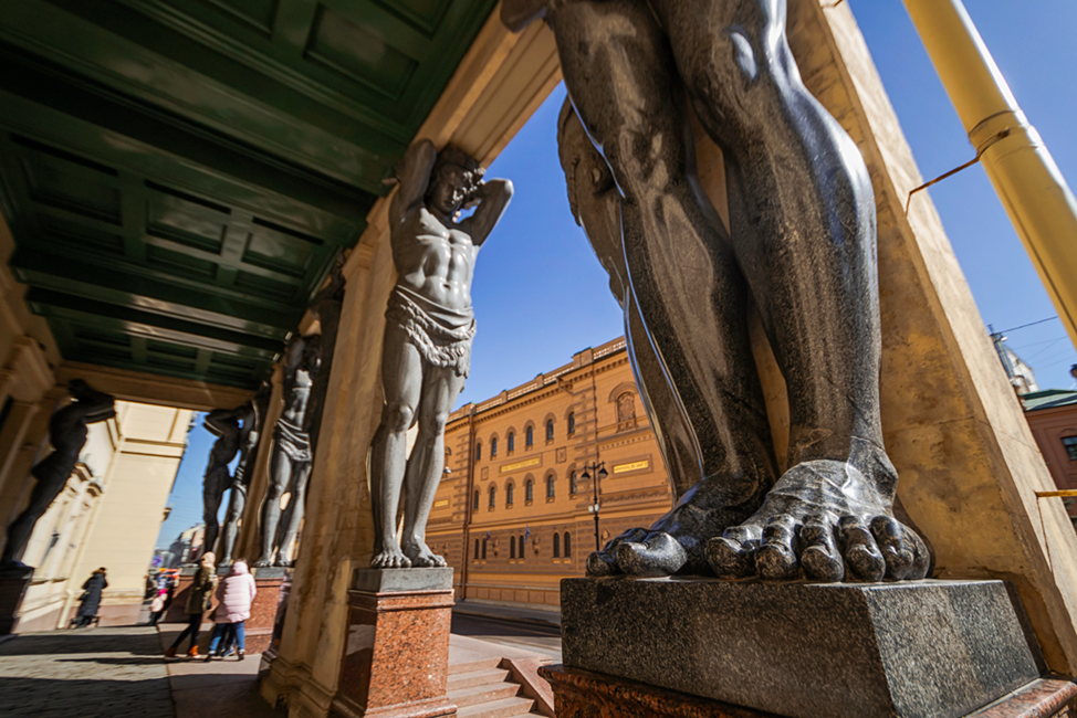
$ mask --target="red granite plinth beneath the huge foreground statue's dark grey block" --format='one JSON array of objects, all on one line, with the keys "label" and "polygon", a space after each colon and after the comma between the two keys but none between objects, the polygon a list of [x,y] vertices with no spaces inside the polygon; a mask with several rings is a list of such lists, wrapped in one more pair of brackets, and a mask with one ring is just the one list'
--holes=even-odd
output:
[{"label": "red granite plinth beneath the huge foreground statue's dark grey block", "polygon": [[[781,718],[562,665],[543,666],[538,675],[553,688],[557,718]],[[1077,716],[1075,698],[1077,685],[1068,680],[1034,680],[968,718]]]}]

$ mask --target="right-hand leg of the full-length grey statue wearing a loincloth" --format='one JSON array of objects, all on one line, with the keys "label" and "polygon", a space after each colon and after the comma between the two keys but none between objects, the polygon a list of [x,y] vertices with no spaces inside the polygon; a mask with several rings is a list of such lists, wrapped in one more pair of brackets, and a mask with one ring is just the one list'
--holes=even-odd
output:
[{"label": "right-hand leg of the full-length grey statue wearing a loincloth", "polygon": [[457,376],[452,368],[426,367],[419,403],[419,434],[405,476],[404,553],[414,567],[447,566],[445,558],[430,550],[425,538],[427,519],[445,471],[445,425],[452,404],[463,390],[463,381],[464,378]]}]

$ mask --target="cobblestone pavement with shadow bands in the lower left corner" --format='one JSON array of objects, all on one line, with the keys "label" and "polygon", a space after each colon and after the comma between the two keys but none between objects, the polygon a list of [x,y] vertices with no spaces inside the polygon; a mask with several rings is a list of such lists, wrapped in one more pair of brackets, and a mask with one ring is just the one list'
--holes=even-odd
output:
[{"label": "cobblestone pavement with shadow bands in the lower left corner", "polygon": [[25,633],[0,643],[4,718],[175,718],[156,629]]}]

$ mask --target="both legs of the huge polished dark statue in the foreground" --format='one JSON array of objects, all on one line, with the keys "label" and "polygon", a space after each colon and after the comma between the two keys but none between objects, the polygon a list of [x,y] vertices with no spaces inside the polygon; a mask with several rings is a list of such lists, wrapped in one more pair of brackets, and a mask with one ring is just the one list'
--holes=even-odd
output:
[{"label": "both legs of the huge polished dark statue in the foreground", "polygon": [[[672,510],[587,559],[590,576],[919,579],[882,443],[871,181],[804,87],[785,0],[505,0],[553,30],[572,108],[562,161],[626,313]],[[689,112],[722,149],[726,230]],[[581,170],[584,171],[581,171]],[[757,308],[790,399],[778,475],[749,338]]]}]

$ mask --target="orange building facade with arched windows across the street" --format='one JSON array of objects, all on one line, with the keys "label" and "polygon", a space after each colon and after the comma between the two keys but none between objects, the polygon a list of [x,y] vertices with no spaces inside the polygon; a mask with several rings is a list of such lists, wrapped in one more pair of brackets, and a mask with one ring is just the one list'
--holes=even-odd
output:
[{"label": "orange building facade with arched windows across the street", "polygon": [[558,605],[561,579],[595,550],[596,463],[599,542],[669,510],[623,338],[453,412],[427,543],[454,569],[457,599]]}]

